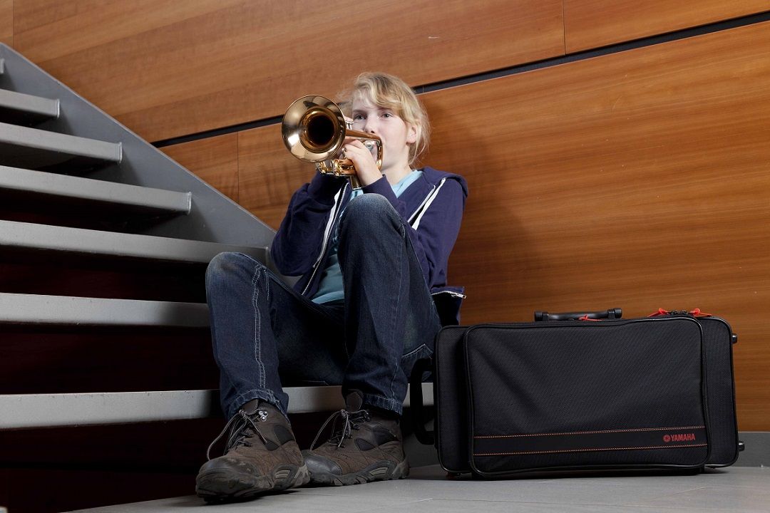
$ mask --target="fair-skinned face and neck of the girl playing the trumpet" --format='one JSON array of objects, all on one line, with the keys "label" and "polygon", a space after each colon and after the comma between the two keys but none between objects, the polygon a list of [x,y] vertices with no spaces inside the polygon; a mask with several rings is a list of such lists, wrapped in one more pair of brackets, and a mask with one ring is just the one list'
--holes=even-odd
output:
[{"label": "fair-skinned face and neck of the girl playing the trumpet", "polygon": [[382,172],[409,168],[409,145],[417,142],[417,128],[390,108],[374,105],[364,95],[353,98],[353,129],[378,135],[383,141]]}]

